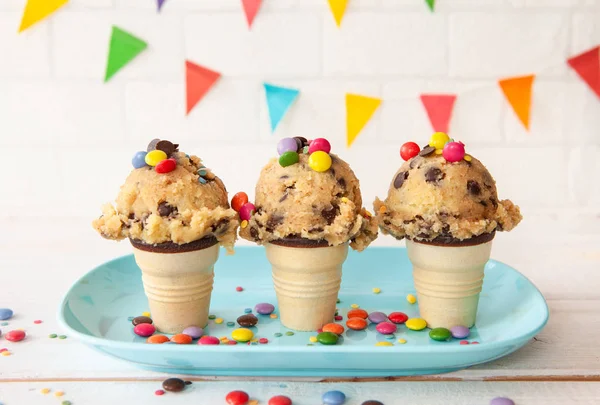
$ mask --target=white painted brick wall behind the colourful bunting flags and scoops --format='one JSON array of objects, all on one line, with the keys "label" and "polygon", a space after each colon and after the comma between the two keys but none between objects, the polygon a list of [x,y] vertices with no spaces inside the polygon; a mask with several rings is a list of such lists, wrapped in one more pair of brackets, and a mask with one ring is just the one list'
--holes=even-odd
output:
[{"label": "white painted brick wall behind the colourful bunting flags and scoops", "polygon": [[[71,0],[18,35],[24,3],[0,0],[0,220],[88,226],[154,137],[251,195],[280,137],[327,137],[371,208],[400,145],[431,133],[419,94],[453,92],[451,134],[532,218],[516,236],[540,223],[600,234],[600,102],[565,63],[600,43],[600,0],[440,0],[435,13],[421,0],[353,0],[341,29],[326,0],[264,0],[252,30],[239,0],[167,0],[160,14],[153,0]],[[149,46],[105,84],[113,24]],[[223,74],[187,117],[185,59]],[[539,76],[527,133],[496,80],[529,73]],[[263,81],[301,89],[275,135]],[[384,100],[351,149],[346,92]]]}]

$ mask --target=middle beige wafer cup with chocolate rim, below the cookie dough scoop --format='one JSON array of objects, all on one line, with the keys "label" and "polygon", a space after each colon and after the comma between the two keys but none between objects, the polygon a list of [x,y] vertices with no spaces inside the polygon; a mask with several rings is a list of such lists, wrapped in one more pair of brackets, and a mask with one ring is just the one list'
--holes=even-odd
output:
[{"label": "middle beige wafer cup with chocolate rim, below the cookie dough scoop", "polygon": [[265,249],[281,323],[297,331],[315,331],[333,322],[348,244],[287,239],[268,243]]}]

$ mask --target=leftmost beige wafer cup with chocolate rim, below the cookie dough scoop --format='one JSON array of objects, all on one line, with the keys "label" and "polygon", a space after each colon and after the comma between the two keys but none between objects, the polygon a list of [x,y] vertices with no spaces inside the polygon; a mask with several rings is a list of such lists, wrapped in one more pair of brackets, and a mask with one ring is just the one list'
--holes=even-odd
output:
[{"label": "leftmost beige wafer cup with chocolate rim, below the cookie dough scoop", "polygon": [[184,245],[131,243],[157,330],[175,334],[188,326],[206,326],[219,256],[217,240],[208,237]]}]

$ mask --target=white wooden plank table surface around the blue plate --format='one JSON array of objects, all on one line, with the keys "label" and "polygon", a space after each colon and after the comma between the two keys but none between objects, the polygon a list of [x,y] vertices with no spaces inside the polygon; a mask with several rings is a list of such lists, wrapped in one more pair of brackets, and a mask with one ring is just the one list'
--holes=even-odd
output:
[{"label": "white wooden plank table surface around the blue plate", "polygon": [[[550,307],[546,328],[521,350],[462,371],[421,377],[324,381],[307,379],[191,378],[182,393],[156,396],[171,377],[103,356],[61,334],[56,313],[70,285],[93,266],[129,253],[127,244],[105,242],[88,231],[88,220],[46,224],[46,234],[30,239],[39,221],[0,221],[0,307],[15,317],[8,330],[24,328],[26,340],[0,338],[0,404],[224,404],[234,389],[260,404],[287,395],[294,404],[320,404],[330,389],[346,393],[347,404],[377,399],[389,404],[487,405],[496,396],[517,405],[600,404],[600,237],[497,238],[493,257],[522,271],[540,287]],[[60,231],[57,231],[59,229]],[[538,232],[543,233],[538,230]],[[540,236],[541,236],[540,233]],[[73,236],[75,235],[75,236]],[[527,238],[527,248],[523,239]],[[386,241],[379,242],[380,244]],[[34,324],[34,320],[42,320]],[[47,394],[41,392],[48,388]],[[64,392],[56,397],[57,391]]]}]

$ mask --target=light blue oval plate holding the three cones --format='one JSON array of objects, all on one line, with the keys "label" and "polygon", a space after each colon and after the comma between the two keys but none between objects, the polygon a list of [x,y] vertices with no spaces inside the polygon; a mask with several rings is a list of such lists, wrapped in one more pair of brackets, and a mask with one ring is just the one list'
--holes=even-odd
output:
[{"label": "light blue oval plate holding the three cones", "polygon": [[[414,293],[411,269],[405,249],[350,252],[339,294],[339,313],[344,316],[340,323],[345,325],[352,304],[368,312],[418,316],[418,304],[406,301],[406,295]],[[259,302],[276,304],[271,268],[262,248],[238,247],[231,256],[221,252],[215,274],[210,312],[223,323],[209,321],[206,333],[210,335],[230,337],[235,327],[227,322],[235,322],[246,308],[254,309]],[[237,286],[244,290],[237,292]],[[373,288],[381,293],[374,294]],[[527,344],[548,320],[546,301],[537,288],[515,269],[494,260],[486,265],[477,324],[467,345],[459,340],[436,342],[429,338],[428,329],[416,332],[404,325],[388,339],[370,325],[364,331],[347,330],[337,345],[324,346],[310,342],[316,333],[292,334],[278,318],[268,315],[258,315],[258,325],[252,328],[256,338],[268,339],[267,344],[151,345],[133,333],[130,322],[145,311],[141,272],[129,255],[102,264],[77,281],[60,306],[59,321],[71,336],[94,349],[161,372],[369,377],[443,373],[488,362]],[[393,346],[376,346],[378,342]]]}]

